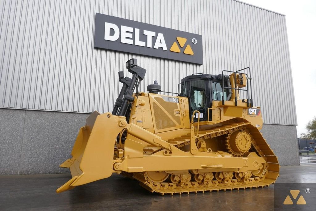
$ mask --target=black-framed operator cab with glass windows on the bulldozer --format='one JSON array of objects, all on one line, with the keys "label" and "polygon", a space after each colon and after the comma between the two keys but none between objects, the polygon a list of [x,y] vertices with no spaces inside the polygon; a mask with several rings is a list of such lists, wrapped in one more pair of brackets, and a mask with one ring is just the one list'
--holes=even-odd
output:
[{"label": "black-framed operator cab with glass windows on the bulldozer", "polygon": [[[222,77],[224,77],[224,87],[230,87],[228,75],[192,74],[181,80],[181,97],[189,99],[190,119],[194,111],[200,112],[200,121],[208,120],[208,108],[212,107],[213,100],[221,101],[224,96],[225,101],[231,97],[231,90],[222,89]],[[194,122],[198,120],[198,113],[194,116]],[[210,115],[211,121],[211,115]]]}]

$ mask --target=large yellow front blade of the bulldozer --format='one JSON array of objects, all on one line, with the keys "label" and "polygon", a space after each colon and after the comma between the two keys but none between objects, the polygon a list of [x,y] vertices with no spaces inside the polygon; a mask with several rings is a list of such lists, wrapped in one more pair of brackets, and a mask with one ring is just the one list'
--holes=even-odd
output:
[{"label": "large yellow front blade of the bulldozer", "polygon": [[71,151],[72,158],[60,165],[70,168],[72,178],[57,193],[112,175],[114,144],[123,129],[119,121],[126,123],[125,117],[98,112],[86,119],[86,126],[80,129]]}]

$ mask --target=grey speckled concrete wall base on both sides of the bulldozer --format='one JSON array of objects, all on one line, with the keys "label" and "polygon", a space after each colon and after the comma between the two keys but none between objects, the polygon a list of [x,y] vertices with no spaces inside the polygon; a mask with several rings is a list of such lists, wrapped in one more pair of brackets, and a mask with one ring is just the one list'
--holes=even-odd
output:
[{"label": "grey speckled concrete wall base on both sides of the bulldozer", "polygon": [[[0,109],[0,175],[69,173],[77,133],[89,114]],[[265,124],[262,129],[281,165],[299,165],[296,127]]]}]

